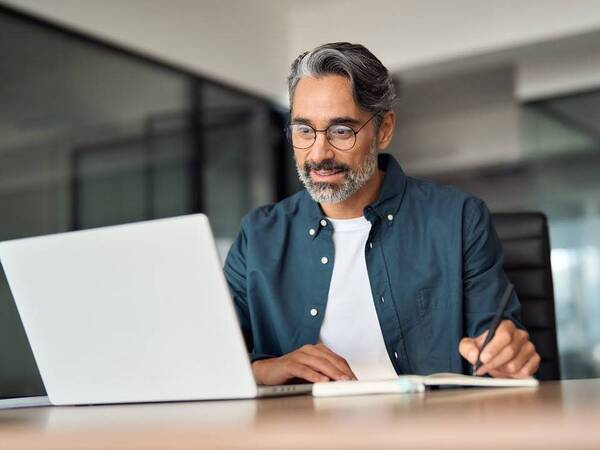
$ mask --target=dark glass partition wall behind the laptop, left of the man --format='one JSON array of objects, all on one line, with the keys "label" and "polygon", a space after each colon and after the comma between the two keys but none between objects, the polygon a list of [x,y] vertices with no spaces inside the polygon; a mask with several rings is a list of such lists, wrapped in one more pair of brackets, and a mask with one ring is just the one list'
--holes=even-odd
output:
[{"label": "dark glass partition wall behind the laptop, left of the man", "polygon": [[[0,60],[0,240],[203,212],[223,256],[290,189],[266,99],[4,7]],[[0,271],[0,398],[42,392]]]}]

